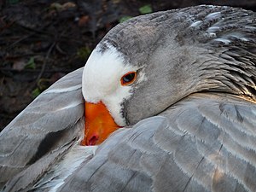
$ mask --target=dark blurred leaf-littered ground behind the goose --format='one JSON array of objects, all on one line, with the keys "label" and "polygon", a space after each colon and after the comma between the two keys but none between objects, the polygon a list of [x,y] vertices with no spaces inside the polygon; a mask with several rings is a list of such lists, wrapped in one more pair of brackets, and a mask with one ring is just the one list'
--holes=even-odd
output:
[{"label": "dark blurred leaf-littered ground behind the goose", "polygon": [[197,4],[256,10],[255,0],[0,1],[0,130],[50,84],[83,67],[122,20]]}]

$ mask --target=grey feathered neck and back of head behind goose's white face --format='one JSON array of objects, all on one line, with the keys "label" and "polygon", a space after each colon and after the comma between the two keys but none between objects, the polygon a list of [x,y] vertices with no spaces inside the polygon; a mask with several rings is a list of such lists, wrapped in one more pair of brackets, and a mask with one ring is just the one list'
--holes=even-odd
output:
[{"label": "grey feathered neck and back of head behind goose's white face", "polygon": [[[108,41],[148,75],[146,84],[134,84],[133,99],[123,103],[129,111],[125,119],[134,119],[133,124],[200,91],[256,100],[255,20],[255,13],[243,9],[197,6],[143,15],[114,27],[102,39],[102,51]],[[145,98],[148,107],[142,108],[139,102]]]}]

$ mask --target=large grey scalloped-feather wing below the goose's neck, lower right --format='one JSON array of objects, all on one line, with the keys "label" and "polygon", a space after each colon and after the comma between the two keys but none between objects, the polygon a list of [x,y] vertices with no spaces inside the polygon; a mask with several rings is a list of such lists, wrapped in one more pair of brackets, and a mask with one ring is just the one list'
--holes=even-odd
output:
[{"label": "large grey scalloped-feather wing below the goose's neck, lower right", "polygon": [[113,133],[60,190],[255,191],[255,112],[239,96],[188,96]]}]

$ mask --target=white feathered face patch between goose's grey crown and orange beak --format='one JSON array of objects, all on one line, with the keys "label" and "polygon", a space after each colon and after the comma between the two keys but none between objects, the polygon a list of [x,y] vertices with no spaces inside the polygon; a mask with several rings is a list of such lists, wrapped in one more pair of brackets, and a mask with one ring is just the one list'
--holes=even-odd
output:
[{"label": "white feathered face patch between goose's grey crown and orange beak", "polygon": [[[106,44],[106,43],[105,43]],[[131,96],[131,86],[122,86],[120,79],[125,73],[137,71],[137,67],[125,65],[123,55],[108,44],[103,53],[98,45],[84,67],[82,91],[86,102],[102,101],[114,121],[125,126],[121,114],[121,103]]]}]

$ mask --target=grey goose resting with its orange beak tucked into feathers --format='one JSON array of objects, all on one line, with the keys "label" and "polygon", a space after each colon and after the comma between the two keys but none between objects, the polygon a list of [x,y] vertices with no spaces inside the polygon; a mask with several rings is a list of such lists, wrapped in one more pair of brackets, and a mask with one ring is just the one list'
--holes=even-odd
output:
[{"label": "grey goose resting with its orange beak tucked into feathers", "polygon": [[1,132],[0,188],[256,191],[255,44],[227,6],[120,23]]}]

